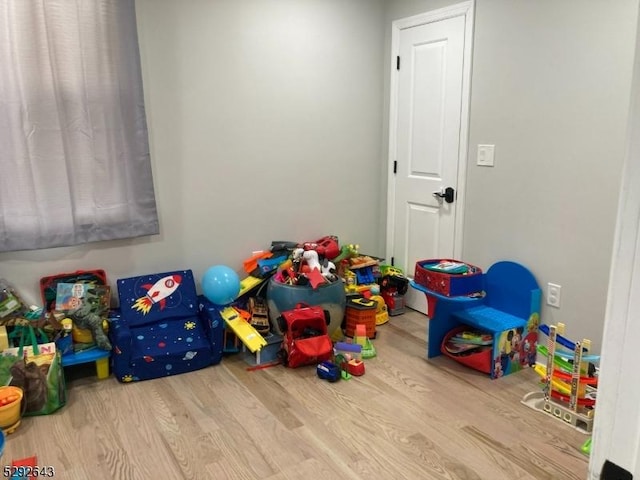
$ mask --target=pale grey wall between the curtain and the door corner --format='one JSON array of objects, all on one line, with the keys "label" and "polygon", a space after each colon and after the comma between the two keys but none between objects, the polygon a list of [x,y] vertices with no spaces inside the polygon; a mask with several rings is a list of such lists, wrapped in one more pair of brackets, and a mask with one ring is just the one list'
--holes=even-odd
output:
[{"label": "pale grey wall between the curtain and the door corner", "polygon": [[161,234],[2,253],[0,278],[41,303],[40,277],[76,269],[200,278],[272,240],[325,234],[384,251],[381,0],[136,8]]}]

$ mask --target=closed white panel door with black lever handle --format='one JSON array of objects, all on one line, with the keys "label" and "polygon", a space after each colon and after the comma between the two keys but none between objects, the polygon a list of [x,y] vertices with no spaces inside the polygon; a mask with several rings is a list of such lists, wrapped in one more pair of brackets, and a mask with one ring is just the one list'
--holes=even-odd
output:
[{"label": "closed white panel door with black lever handle", "polygon": [[[393,194],[389,198],[387,259],[392,258],[408,276],[413,275],[418,260],[459,255],[460,173],[467,150],[469,8],[457,15],[445,9],[440,17],[440,11],[431,12],[430,21],[415,26],[410,20],[417,17],[412,17],[404,21],[410,26],[394,30],[390,121],[394,173],[389,188]],[[443,198],[447,189],[449,198]],[[406,301],[409,307],[426,312],[424,295],[410,289]]]}]

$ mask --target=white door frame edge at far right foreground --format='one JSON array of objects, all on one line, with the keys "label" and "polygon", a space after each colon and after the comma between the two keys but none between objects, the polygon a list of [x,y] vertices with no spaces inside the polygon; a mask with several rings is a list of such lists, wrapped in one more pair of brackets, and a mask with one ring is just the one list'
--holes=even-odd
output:
[{"label": "white door frame edge at far right foreground", "polygon": [[[640,19],[636,30],[640,45]],[[640,478],[640,48],[631,81],[626,158],[609,277],[589,479]],[[605,474],[603,466],[611,470]],[[615,473],[614,473],[615,472]],[[601,473],[603,475],[601,476]]]}]

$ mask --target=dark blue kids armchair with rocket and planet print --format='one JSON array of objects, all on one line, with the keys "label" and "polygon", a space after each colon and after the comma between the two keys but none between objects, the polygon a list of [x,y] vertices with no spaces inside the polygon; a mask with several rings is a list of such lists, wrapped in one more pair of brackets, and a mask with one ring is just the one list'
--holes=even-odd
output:
[{"label": "dark blue kids armchair with rocket and planet print", "polygon": [[110,318],[113,372],[121,382],[177,375],[219,363],[222,321],[198,297],[191,270],[117,281],[120,308]]}]

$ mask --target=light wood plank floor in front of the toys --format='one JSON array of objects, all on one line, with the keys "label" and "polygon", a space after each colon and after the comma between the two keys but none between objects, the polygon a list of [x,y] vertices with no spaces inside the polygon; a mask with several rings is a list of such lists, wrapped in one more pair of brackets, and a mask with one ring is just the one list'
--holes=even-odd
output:
[{"label": "light wood plank floor in front of the toys", "polygon": [[239,356],[122,385],[69,372],[69,402],[7,437],[2,465],[38,456],[57,479],[586,479],[586,436],[520,404],[538,389],[426,359],[417,312],[378,327],[348,381],[314,367],[247,371]]}]

